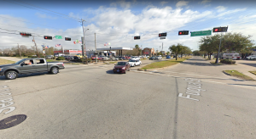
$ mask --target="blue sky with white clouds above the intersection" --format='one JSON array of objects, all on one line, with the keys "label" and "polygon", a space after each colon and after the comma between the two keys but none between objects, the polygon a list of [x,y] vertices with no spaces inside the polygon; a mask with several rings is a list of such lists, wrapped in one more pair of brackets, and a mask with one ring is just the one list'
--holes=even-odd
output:
[{"label": "blue sky with white clouds above the intersection", "polygon": [[[80,49],[73,41],[82,36],[79,19],[84,19],[86,48],[143,47],[164,50],[177,42],[198,49],[200,36],[177,36],[177,31],[207,31],[229,25],[229,32],[253,36],[256,31],[256,1],[0,1],[0,49],[17,43],[33,46],[32,37],[21,37],[20,31],[35,35],[38,46],[60,44],[65,49]],[[1,33],[5,32],[5,33]],[[8,34],[8,33],[15,34]],[[158,33],[167,32],[166,40]],[[43,36],[69,36],[72,42]],[[141,36],[141,40],[133,40]],[[253,40],[256,36],[252,37]],[[110,47],[110,46],[108,46]],[[41,48],[41,47],[40,47]]]}]

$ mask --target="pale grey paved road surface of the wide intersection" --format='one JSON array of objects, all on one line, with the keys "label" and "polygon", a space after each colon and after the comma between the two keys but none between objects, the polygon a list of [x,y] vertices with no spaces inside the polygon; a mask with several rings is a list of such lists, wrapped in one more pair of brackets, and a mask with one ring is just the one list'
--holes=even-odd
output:
[{"label": "pale grey paved road surface of the wide intersection", "polygon": [[0,136],[256,138],[253,81],[231,85],[236,80],[215,72],[216,67],[201,69],[201,58],[185,63],[126,74],[113,74],[113,65],[66,64],[57,75],[20,75],[14,81],[0,76],[2,92],[8,88],[15,107],[0,113],[0,120],[27,116],[20,125],[0,130]]}]

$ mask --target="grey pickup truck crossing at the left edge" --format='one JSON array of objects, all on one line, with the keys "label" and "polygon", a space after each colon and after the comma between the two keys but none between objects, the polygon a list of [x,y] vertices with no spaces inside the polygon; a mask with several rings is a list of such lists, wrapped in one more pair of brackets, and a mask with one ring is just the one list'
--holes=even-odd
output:
[{"label": "grey pickup truck crossing at the left edge", "polygon": [[18,75],[39,72],[57,74],[59,69],[65,69],[63,63],[47,62],[45,58],[24,58],[15,64],[0,65],[0,75],[5,75],[6,79],[13,80]]}]

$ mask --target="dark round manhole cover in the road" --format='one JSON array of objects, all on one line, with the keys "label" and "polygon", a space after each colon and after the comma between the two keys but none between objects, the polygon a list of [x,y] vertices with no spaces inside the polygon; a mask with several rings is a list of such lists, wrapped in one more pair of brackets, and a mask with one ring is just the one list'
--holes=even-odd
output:
[{"label": "dark round manhole cover in the road", "polygon": [[19,125],[24,120],[26,120],[25,114],[14,115],[14,116],[10,116],[4,120],[0,120],[0,130],[7,129],[7,128],[13,127],[15,125]]}]

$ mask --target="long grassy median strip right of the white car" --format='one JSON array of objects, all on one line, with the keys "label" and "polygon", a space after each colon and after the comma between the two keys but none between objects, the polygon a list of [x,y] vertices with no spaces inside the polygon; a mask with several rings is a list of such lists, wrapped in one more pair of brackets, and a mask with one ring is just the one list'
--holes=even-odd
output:
[{"label": "long grassy median strip right of the white car", "polygon": [[189,58],[177,58],[177,60],[174,58],[174,59],[167,60],[167,61],[155,62],[153,64],[145,65],[142,69],[164,68],[164,67],[168,67],[168,66],[171,66],[171,65],[174,65],[174,64],[182,63],[184,60],[187,60]]}]

